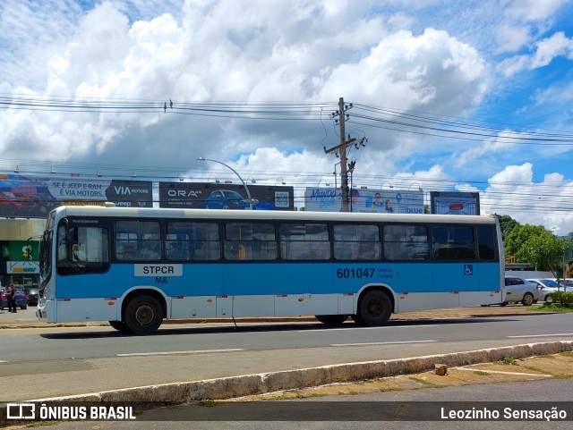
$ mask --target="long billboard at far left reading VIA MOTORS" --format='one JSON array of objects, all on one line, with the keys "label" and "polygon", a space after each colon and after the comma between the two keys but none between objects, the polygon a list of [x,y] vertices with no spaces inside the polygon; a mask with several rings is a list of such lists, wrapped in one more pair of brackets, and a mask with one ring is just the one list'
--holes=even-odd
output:
[{"label": "long billboard at far left reading VIA MOTORS", "polygon": [[0,174],[0,217],[44,218],[50,210],[68,201],[110,201],[123,207],[153,207],[152,182]]}]

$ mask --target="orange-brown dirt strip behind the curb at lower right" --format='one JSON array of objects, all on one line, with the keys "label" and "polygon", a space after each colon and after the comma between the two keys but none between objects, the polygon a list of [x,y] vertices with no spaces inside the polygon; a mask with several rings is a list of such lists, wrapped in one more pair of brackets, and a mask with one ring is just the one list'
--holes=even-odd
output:
[{"label": "orange-brown dirt strip behind the curb at lower right", "polygon": [[[466,367],[452,367],[446,375],[424,372],[415,375],[398,375],[346,384],[329,384],[281,392],[269,392],[234,400],[292,400],[330,395],[366,394],[440,388],[451,385],[496,384],[505,382],[533,381],[543,378],[573,378],[573,352],[534,358],[504,358],[495,363],[482,363]],[[229,401],[229,400],[223,400]]]}]

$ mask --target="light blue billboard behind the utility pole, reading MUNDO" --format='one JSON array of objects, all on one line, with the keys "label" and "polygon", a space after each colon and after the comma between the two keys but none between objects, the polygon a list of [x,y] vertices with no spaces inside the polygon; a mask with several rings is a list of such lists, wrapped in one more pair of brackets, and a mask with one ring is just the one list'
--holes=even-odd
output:
[{"label": "light blue billboard behind the utility pole, reading MUNDO", "polygon": [[[348,210],[358,213],[423,214],[423,191],[350,190]],[[307,188],[304,207],[307,211],[340,212],[342,191],[335,188]]]}]

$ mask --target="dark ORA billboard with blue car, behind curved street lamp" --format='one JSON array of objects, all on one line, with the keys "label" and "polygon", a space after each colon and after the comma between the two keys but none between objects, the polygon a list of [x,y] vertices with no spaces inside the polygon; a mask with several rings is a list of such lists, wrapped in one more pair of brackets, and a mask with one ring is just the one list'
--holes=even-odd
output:
[{"label": "dark ORA billboard with blue car, behind curved street lamp", "polygon": [[205,182],[159,182],[159,207],[295,210],[293,187]]}]

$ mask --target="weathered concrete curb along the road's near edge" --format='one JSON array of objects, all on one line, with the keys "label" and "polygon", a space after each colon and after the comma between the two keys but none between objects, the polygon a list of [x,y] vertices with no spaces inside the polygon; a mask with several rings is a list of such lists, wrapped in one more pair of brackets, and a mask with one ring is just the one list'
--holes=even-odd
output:
[{"label": "weathered concrete curb along the road's near edge", "polygon": [[[186,383],[159,384],[106,392],[30,401],[90,401],[99,403],[185,403],[196,400],[223,400],[280,390],[344,383],[433,370],[436,364],[448,367],[495,362],[504,357],[528,358],[573,350],[573,341],[526,343],[522,345],[454,352],[417,358],[366,361],[297,370],[230,376]],[[156,405],[157,405],[156,403]]]}]

